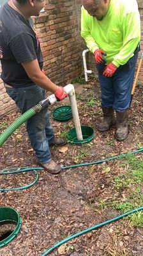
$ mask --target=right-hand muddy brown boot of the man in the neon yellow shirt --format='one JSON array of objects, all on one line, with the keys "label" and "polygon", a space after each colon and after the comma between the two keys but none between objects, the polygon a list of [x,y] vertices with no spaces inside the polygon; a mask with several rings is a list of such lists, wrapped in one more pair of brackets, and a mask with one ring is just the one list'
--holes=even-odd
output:
[{"label": "right-hand muddy brown boot of the man in the neon yellow shirt", "polygon": [[128,137],[128,110],[116,111],[117,131],[116,139],[119,141],[126,140]]}]

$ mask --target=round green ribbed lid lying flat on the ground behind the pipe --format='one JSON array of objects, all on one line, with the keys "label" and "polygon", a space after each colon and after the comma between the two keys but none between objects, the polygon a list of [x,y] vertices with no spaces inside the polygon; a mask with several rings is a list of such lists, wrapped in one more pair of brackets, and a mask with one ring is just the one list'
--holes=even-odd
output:
[{"label": "round green ribbed lid lying flat on the ground behind the pipe", "polygon": [[71,106],[61,106],[59,108],[56,108],[53,111],[52,116],[57,121],[68,121],[72,119],[73,115]]}]

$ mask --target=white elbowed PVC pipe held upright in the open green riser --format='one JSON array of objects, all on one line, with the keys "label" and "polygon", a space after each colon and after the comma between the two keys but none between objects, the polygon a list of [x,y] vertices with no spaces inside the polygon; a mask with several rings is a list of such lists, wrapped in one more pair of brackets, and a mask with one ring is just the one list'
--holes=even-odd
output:
[{"label": "white elbowed PVC pipe held upright in the open green riser", "polygon": [[[77,109],[77,101],[75,99],[75,88],[74,88],[73,84],[68,84],[68,85],[64,86],[64,90],[66,91],[66,93],[68,93],[68,96],[70,98],[73,122],[75,124],[75,131],[77,133],[77,140],[83,140],[82,129],[81,129],[80,120],[79,120],[79,113],[78,113],[78,109]],[[54,94],[50,95],[48,97],[48,99],[49,99],[51,105],[57,101]]]}]

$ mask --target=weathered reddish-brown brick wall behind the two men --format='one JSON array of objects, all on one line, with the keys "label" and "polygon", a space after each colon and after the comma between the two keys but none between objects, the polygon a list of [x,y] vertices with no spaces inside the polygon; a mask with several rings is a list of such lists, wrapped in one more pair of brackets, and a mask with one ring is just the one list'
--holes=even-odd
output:
[{"label": "weathered reddish-brown brick wall behind the two men", "polygon": [[[143,51],[143,2],[138,0],[138,3],[142,22]],[[80,38],[80,6],[80,0],[47,0],[45,12],[34,18],[34,26],[43,52],[44,70],[54,83],[63,86],[83,72],[82,51],[86,49],[86,45]],[[89,68],[96,71],[93,54],[87,54],[87,60],[90,63]],[[143,81],[143,67],[139,80]],[[0,116],[13,108],[15,104],[8,98],[0,79]]]}]

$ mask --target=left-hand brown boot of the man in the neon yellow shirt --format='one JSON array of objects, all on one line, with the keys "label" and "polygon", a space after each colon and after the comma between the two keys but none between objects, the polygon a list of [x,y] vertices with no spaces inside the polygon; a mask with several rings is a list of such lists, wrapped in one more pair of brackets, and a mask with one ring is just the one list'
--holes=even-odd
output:
[{"label": "left-hand brown boot of the man in the neon yellow shirt", "polygon": [[103,121],[101,124],[97,125],[97,129],[100,132],[106,132],[110,130],[110,127],[116,124],[116,117],[114,116],[114,109],[103,108]]}]

